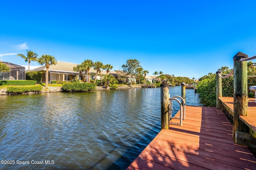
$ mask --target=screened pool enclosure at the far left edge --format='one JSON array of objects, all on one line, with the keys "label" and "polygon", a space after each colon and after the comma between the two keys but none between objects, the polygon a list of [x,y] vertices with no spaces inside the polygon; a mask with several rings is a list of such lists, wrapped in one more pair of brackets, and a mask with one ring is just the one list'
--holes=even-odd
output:
[{"label": "screened pool enclosure at the far left edge", "polygon": [[9,62],[1,62],[6,64],[10,70],[8,72],[0,72],[0,80],[26,80],[26,69],[24,66]]}]

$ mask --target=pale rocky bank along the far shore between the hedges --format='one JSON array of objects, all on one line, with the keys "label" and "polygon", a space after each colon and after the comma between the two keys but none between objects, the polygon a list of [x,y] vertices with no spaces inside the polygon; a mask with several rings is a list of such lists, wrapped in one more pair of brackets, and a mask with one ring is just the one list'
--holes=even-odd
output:
[{"label": "pale rocky bank along the far shore between the hedges", "polygon": [[[127,88],[142,88],[142,86],[140,85],[118,85],[118,88],[116,89],[110,89],[110,87],[105,88],[104,86],[96,86],[95,90],[91,90],[91,91],[96,91],[96,90],[117,90],[117,89],[127,89]],[[12,94],[8,94],[6,93],[7,88],[4,89],[0,89],[0,95],[12,95]],[[58,93],[58,92],[63,92],[62,91],[62,87],[54,87],[54,86],[48,86],[48,88],[43,87],[43,89],[41,90],[41,92],[39,93]],[[74,92],[76,93],[76,92]],[[22,94],[38,94],[36,92],[28,92],[28,93],[22,93]]]}]

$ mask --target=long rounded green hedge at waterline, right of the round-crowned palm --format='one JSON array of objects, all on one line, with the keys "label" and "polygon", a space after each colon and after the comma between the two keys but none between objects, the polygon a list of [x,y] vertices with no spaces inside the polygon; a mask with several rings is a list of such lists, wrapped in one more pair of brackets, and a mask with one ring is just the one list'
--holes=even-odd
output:
[{"label": "long rounded green hedge at waterline, right of the round-crowned palm", "polygon": [[62,90],[64,92],[88,92],[90,90],[95,90],[96,84],[94,83],[72,83],[66,82],[62,84]]}]

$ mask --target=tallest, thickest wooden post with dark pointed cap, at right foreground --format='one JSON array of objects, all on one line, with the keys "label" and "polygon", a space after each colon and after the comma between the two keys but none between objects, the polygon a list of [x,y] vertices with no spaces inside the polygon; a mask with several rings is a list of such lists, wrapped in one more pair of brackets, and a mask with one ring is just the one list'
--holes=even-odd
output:
[{"label": "tallest, thickest wooden post with dark pointed cap, at right foreground", "polygon": [[247,61],[248,55],[238,52],[234,57],[234,125],[233,139],[236,141],[236,131],[248,132],[248,127],[239,119],[239,115],[248,115],[248,90],[247,90]]}]

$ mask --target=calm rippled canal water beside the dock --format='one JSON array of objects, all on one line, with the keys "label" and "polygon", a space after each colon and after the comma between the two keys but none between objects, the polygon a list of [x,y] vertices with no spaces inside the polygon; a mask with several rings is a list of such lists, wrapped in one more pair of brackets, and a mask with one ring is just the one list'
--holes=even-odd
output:
[{"label": "calm rippled canal water beside the dock", "polygon": [[[199,101],[186,90],[187,105]],[[125,169],[159,131],[160,88],[2,95],[0,160],[14,164],[0,169]]]}]

